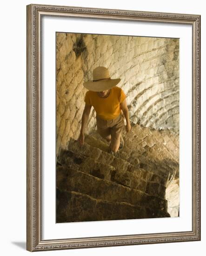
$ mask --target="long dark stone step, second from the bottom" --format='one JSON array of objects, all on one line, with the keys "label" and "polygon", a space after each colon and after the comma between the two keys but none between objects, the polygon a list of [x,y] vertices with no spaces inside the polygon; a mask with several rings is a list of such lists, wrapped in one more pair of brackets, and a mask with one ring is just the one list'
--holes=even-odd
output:
[{"label": "long dark stone step, second from the bottom", "polygon": [[127,202],[164,211],[167,209],[167,201],[163,198],[63,166],[57,167],[57,187],[110,202]]}]

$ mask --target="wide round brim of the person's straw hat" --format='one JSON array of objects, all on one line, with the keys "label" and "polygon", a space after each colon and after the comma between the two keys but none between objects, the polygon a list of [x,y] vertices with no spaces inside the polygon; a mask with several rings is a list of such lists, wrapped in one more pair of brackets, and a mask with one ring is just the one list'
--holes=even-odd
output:
[{"label": "wide round brim of the person's straw hat", "polygon": [[101,92],[105,90],[109,90],[116,86],[121,81],[118,79],[104,79],[100,81],[87,81],[83,83],[83,86],[93,92]]}]

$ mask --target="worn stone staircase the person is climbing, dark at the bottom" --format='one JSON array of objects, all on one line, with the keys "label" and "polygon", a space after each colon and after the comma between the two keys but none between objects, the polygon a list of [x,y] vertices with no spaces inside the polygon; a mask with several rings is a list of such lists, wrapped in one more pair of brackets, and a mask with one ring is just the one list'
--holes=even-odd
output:
[{"label": "worn stone staircase the person is climbing, dark at the bottom", "polygon": [[113,156],[93,132],[57,162],[57,222],[170,217],[166,186],[179,175],[178,136],[135,125]]}]

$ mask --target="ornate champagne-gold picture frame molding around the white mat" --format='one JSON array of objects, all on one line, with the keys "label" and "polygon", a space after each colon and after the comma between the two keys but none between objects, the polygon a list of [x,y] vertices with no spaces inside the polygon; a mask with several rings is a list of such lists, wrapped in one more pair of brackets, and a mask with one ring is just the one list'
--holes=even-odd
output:
[{"label": "ornate champagne-gold picture frame molding around the white mat", "polygon": [[[41,19],[43,16],[190,24],[193,28],[192,231],[42,240]],[[65,6],[27,6],[27,250],[78,249],[200,240],[200,15]]]}]

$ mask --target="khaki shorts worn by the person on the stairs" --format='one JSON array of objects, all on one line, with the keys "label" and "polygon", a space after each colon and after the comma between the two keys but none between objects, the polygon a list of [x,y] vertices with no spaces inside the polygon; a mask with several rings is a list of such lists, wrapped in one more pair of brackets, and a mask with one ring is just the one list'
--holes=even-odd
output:
[{"label": "khaki shorts worn by the person on the stairs", "polygon": [[111,135],[113,139],[119,139],[122,134],[124,127],[124,116],[119,115],[117,118],[112,120],[103,120],[98,115],[96,115],[97,120],[97,132],[104,139]]}]

